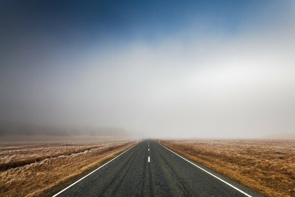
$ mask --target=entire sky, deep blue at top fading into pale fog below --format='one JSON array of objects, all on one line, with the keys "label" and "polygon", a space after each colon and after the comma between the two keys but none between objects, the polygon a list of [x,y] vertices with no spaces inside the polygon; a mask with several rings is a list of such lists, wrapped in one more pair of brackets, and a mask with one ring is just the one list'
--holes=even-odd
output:
[{"label": "entire sky, deep blue at top fading into pale fog below", "polygon": [[295,133],[293,0],[1,0],[0,124]]}]

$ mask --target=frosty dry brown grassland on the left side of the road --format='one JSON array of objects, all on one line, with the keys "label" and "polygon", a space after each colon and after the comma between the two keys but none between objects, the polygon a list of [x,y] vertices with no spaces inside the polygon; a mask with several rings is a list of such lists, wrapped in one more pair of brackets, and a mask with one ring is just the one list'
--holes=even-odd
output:
[{"label": "frosty dry brown grassland on the left side of the road", "polygon": [[39,196],[133,144],[112,138],[2,139],[0,196]]}]

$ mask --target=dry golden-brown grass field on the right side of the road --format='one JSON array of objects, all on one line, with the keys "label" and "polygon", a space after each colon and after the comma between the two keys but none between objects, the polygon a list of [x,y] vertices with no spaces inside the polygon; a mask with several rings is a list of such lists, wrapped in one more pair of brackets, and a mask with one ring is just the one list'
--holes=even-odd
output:
[{"label": "dry golden-brown grass field on the right side of the road", "polygon": [[295,197],[295,140],[161,140],[268,197]]}]

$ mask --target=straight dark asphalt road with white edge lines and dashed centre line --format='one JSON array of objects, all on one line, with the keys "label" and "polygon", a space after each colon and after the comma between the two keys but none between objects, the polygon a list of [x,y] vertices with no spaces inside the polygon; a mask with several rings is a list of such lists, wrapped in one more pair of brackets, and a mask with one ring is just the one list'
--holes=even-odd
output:
[{"label": "straight dark asphalt road with white edge lines and dashed centre line", "polygon": [[181,157],[158,142],[145,140],[56,196],[262,197]]}]

